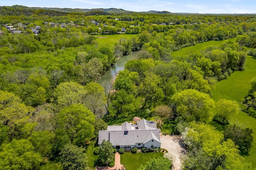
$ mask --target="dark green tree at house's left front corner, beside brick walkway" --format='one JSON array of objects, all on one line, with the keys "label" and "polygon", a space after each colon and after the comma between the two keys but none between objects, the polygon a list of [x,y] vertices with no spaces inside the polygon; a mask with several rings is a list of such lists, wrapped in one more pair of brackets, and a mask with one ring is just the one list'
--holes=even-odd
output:
[{"label": "dark green tree at house's left front corner, beside brick walkway", "polygon": [[114,149],[111,142],[103,140],[100,146],[98,161],[102,165],[108,166],[114,160]]}]

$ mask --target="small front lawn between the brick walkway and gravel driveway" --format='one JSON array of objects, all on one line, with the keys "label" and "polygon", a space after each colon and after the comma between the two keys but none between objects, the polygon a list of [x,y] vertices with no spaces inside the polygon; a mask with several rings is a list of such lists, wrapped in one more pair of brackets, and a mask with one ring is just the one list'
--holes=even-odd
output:
[{"label": "small front lawn between the brick walkway and gravel driveway", "polygon": [[150,158],[158,158],[158,156],[164,156],[162,152],[150,152],[132,154],[130,152],[125,152],[120,156],[120,162],[124,165],[126,170],[137,170],[141,164],[145,164]]}]

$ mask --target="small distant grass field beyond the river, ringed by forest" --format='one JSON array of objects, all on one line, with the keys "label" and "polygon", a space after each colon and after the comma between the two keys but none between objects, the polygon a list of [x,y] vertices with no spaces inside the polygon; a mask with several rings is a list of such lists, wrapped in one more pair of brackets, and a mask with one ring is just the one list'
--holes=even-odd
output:
[{"label": "small distant grass field beyond the river, ringed by forest", "polygon": [[115,43],[119,42],[120,38],[126,38],[126,40],[129,40],[130,38],[136,36],[136,34],[97,35],[96,41],[98,41],[98,44],[101,45],[115,45]]}]

